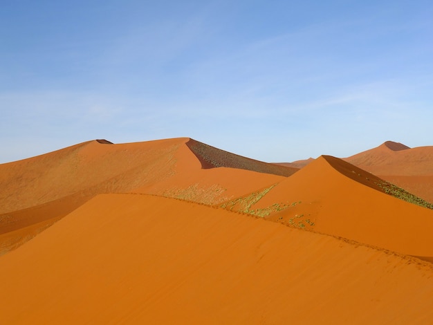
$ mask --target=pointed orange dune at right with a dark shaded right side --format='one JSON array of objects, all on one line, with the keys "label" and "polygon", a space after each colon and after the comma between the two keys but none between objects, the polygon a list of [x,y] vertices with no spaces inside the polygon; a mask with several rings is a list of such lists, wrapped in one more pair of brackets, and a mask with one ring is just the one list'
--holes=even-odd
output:
[{"label": "pointed orange dune at right with a dark shaded right side", "polygon": [[[249,208],[270,219],[403,254],[433,256],[433,210],[380,192],[378,178],[321,156]],[[227,205],[230,207],[230,204]]]}]

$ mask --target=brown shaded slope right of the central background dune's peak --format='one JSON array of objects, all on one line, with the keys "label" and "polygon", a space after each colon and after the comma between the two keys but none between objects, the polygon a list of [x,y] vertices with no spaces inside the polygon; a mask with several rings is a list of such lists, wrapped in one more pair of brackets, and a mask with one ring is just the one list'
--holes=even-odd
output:
[{"label": "brown shaded slope right of the central background dune's peak", "polygon": [[187,146],[199,158],[203,169],[230,167],[279,176],[291,176],[298,170],[293,167],[264,163],[259,160],[232,154],[193,139],[187,142]]}]

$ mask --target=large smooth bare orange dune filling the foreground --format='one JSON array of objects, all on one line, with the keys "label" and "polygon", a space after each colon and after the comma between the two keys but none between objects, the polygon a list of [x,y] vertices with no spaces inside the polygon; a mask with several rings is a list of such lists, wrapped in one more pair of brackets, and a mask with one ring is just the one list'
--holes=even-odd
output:
[{"label": "large smooth bare orange dune filling the foreground", "polygon": [[93,198],[1,257],[0,279],[4,324],[430,324],[433,317],[428,263],[147,195]]}]

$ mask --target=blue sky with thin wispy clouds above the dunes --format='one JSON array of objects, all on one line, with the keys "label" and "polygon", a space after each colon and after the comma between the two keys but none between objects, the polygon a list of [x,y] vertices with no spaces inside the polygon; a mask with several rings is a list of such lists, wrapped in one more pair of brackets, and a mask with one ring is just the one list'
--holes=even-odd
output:
[{"label": "blue sky with thin wispy clouds above the dunes", "polygon": [[433,145],[433,2],[2,1],[0,163],[191,137],[268,162]]}]

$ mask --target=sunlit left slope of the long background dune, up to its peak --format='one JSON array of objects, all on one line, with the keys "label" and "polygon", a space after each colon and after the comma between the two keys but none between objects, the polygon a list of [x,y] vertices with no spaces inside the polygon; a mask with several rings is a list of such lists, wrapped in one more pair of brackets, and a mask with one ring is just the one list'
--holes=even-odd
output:
[{"label": "sunlit left slope of the long background dune, up to its peak", "polygon": [[89,190],[88,196],[127,192],[173,168],[185,139],[102,144],[84,142],[49,154],[0,165],[0,213],[22,210]]}]

